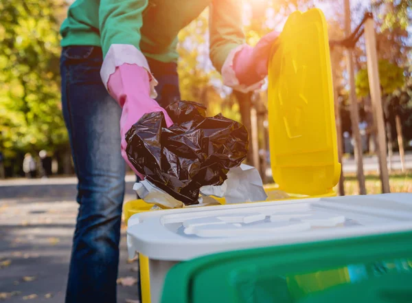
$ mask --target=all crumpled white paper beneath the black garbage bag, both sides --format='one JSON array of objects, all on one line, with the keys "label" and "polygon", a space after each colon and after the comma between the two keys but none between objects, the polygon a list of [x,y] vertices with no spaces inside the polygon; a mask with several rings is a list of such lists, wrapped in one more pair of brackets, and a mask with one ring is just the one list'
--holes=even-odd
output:
[{"label": "all crumpled white paper beneath the black garbage bag, both sides", "polygon": [[[139,197],[147,203],[153,203],[155,208],[181,208],[184,203],[174,199],[170,194],[157,188],[148,180],[135,183],[133,190]],[[203,186],[198,205],[218,204],[218,201],[209,196],[225,197],[227,204],[265,201],[267,199],[264,192],[263,182],[260,174],[253,166],[242,164],[237,168],[232,168],[227,174],[227,180],[221,186]]]}]

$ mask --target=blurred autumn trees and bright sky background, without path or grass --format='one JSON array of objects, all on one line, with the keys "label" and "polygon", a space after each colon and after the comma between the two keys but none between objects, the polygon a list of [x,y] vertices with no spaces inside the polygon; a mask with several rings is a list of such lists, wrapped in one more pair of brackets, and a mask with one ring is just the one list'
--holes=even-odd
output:
[{"label": "blurred autumn trees and bright sky background, without path or grass", "polygon": [[[330,40],[333,41],[345,37],[345,20],[350,20],[354,30],[365,12],[374,13],[388,165],[389,169],[403,170],[407,175],[407,168],[412,165],[409,164],[412,161],[409,155],[412,150],[411,1],[352,0],[350,14],[345,13],[344,2],[244,0],[239,1],[239,5],[244,9],[244,30],[251,45],[271,30],[281,31],[287,16],[295,10],[321,8],[328,19]],[[58,34],[70,3],[64,0],[3,0],[0,3],[1,179],[73,175],[67,131],[60,111]],[[179,34],[182,98],[205,104],[209,115],[222,113],[243,122],[250,133],[255,134],[251,138],[249,164],[260,169],[264,181],[272,181],[267,142],[266,89],[244,95],[222,85],[220,75],[209,60],[207,23],[206,10]],[[350,71],[347,69],[345,48],[334,47],[333,52],[336,111],[339,111],[341,120],[339,140],[344,154],[344,170],[349,174],[347,180],[350,181],[350,173],[356,171],[356,164],[359,163],[353,159],[353,132],[357,130],[352,129],[350,113]],[[352,54],[358,128],[363,155],[367,159],[364,166],[369,172],[376,172],[377,161],[372,157],[376,153],[376,132],[369,96],[364,36],[356,43]],[[400,123],[397,124],[397,120]],[[404,149],[403,157],[398,156],[400,142]],[[376,165],[370,164],[371,169],[367,168],[368,157],[371,157],[371,163],[376,162]]]}]

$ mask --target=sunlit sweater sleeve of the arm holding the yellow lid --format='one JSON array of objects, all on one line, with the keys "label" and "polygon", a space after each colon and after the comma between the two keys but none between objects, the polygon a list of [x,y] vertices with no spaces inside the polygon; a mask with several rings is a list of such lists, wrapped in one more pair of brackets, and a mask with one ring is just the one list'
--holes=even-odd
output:
[{"label": "sunlit sweater sleeve of the arm holding the yellow lid", "polygon": [[221,71],[229,52],[245,43],[242,1],[213,0],[209,9],[210,59]]}]

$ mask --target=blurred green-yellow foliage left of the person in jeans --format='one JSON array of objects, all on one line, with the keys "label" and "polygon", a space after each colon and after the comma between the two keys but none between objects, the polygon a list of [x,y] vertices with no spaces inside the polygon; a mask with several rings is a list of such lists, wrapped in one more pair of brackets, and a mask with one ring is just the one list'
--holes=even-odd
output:
[{"label": "blurred green-yellow foliage left of the person in jeans", "polygon": [[0,148],[6,157],[67,144],[57,19],[64,8],[58,0],[0,2]]}]

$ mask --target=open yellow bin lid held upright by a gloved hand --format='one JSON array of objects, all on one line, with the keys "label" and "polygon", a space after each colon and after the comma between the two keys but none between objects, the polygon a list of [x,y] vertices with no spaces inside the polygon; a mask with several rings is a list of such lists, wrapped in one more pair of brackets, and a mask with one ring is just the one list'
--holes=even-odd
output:
[{"label": "open yellow bin lid held upright by a gloved hand", "polygon": [[318,9],[288,18],[268,66],[268,116],[273,179],[310,196],[336,186],[336,144],[328,28]]}]

